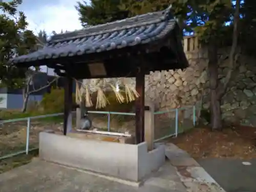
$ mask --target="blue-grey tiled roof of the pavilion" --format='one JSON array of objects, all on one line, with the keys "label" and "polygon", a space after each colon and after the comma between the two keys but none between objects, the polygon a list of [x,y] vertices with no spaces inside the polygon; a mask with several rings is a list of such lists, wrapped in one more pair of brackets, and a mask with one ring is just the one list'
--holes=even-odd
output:
[{"label": "blue-grey tiled roof of the pavilion", "polygon": [[168,34],[174,29],[176,23],[176,19],[167,9],[79,31],[57,34],[51,37],[44,48],[18,56],[11,62],[71,57],[146,44]]}]

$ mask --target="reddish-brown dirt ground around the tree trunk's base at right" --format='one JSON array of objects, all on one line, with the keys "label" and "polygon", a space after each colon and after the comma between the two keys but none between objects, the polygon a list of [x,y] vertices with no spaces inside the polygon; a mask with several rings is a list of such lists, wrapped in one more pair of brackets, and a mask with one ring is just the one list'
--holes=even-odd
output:
[{"label": "reddish-brown dirt ground around the tree trunk's base at right", "polygon": [[256,158],[256,127],[237,126],[222,132],[195,128],[167,140],[197,158]]}]

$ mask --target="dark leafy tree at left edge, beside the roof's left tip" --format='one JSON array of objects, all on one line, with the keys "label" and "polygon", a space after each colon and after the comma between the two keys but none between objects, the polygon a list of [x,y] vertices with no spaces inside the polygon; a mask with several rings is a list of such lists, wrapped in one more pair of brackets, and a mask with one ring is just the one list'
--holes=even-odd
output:
[{"label": "dark leafy tree at left edge, beside the roof's left tip", "polygon": [[27,54],[35,49],[36,37],[27,29],[23,12],[17,11],[19,3],[0,3],[4,14],[0,15],[0,80],[1,86],[19,87],[23,84],[27,69],[17,69],[9,59]]}]

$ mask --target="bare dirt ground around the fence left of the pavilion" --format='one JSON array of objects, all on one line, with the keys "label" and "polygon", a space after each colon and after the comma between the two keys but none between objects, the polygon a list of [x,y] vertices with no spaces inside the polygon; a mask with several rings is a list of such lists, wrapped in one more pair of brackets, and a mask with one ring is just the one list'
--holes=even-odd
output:
[{"label": "bare dirt ground around the fence left of the pavilion", "polygon": [[[57,122],[31,121],[29,150],[38,147],[39,133],[45,129],[59,131],[62,127]],[[24,151],[26,148],[27,122],[19,121],[0,125],[0,157]],[[0,174],[14,167],[27,164],[37,156],[38,150],[29,152],[29,155],[20,154],[14,157],[0,160]]]}]

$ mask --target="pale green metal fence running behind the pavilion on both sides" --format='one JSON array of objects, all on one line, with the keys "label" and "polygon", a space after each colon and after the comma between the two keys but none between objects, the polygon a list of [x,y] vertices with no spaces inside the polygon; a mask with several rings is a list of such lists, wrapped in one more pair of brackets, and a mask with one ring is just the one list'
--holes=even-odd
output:
[{"label": "pale green metal fence running behind the pavilion on both sides", "polygon": [[[155,142],[194,127],[199,110],[193,105],[154,112]],[[89,117],[96,129],[135,133],[135,113],[89,111]],[[38,149],[39,133],[45,129],[62,131],[62,122],[63,113],[0,121],[0,160]]]}]

